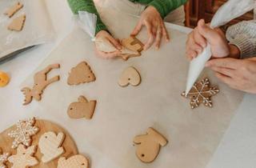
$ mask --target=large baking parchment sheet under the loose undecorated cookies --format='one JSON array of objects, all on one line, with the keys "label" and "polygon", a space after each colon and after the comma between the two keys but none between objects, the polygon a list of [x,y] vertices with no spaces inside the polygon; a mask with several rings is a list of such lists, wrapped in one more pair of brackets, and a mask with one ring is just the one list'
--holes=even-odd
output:
[{"label": "large baking parchment sheet under the loose undecorated cookies", "polygon": [[[127,37],[137,20],[114,11],[104,17],[104,22],[118,38]],[[185,57],[187,35],[170,27],[168,30],[171,41],[163,42],[160,50],[153,47],[144,51],[141,57],[124,62],[122,59],[98,58],[90,37],[74,28],[38,67],[42,70],[51,63],[60,63],[61,70],[53,70],[49,76],[60,74],[60,82],[46,88],[41,102],[33,101],[24,108],[28,113],[33,110],[36,117],[66,127],[80,153],[90,156],[94,168],[102,168],[98,162],[103,158],[113,162],[115,166],[112,167],[120,168],[204,168],[243,94],[230,89],[206,70],[202,75],[210,78],[220,93],[213,97],[213,108],[201,105],[191,110],[190,100],[181,96],[189,66]],[[145,42],[146,31],[143,30],[138,38]],[[90,64],[96,82],[68,86],[70,69],[82,61]],[[134,66],[140,72],[142,83],[139,86],[118,86],[118,78],[128,66]],[[33,86],[33,75],[22,86]],[[66,114],[70,103],[77,101],[80,95],[97,100],[90,121],[70,119]],[[136,157],[133,139],[138,134],[145,134],[150,126],[162,133],[169,143],[154,162],[144,164]]]}]

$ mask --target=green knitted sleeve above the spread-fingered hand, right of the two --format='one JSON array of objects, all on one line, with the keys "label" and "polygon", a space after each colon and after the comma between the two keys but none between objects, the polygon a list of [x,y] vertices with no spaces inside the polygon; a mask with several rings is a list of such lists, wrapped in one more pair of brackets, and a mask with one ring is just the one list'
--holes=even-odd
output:
[{"label": "green knitted sleeve above the spread-fingered hand, right of the two", "polygon": [[184,5],[186,2],[187,0],[153,0],[149,3],[149,6],[154,6],[162,18],[165,18],[167,14],[176,10],[179,6]]}]

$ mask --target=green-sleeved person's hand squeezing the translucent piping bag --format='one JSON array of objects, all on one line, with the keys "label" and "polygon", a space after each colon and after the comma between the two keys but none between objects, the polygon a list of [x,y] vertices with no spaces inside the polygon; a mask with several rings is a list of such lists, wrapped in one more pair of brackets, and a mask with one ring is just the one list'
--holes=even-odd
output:
[{"label": "green-sleeved person's hand squeezing the translucent piping bag", "polygon": [[119,54],[121,54],[122,46],[118,39],[113,38],[106,30],[101,30],[96,34],[96,38],[105,38],[107,39],[113,46],[117,49],[113,52],[103,52],[101,50],[98,50],[96,47],[96,54],[102,58],[114,58],[117,57]]}]

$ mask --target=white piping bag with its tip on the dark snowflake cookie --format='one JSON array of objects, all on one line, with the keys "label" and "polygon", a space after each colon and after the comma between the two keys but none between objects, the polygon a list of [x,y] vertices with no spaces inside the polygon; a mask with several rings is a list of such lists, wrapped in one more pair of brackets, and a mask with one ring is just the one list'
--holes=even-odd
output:
[{"label": "white piping bag with its tip on the dark snowflake cookie", "polygon": [[[254,6],[254,0],[229,0],[218,9],[216,14],[214,14],[214,18],[210,22],[210,28],[214,29],[223,26],[234,18],[238,18],[242,14],[253,10]],[[211,55],[210,44],[207,43],[207,46],[202,53],[198,54],[198,57],[190,62],[190,69],[186,81],[186,96],[190,92],[194,82],[197,81],[206,62],[211,58]]]}]

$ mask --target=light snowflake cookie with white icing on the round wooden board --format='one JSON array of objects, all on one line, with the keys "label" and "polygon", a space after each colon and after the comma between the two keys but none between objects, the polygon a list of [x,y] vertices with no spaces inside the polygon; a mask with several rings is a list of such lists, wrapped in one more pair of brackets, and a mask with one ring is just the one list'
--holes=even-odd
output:
[{"label": "light snowflake cookie with white icing on the round wooden board", "polygon": [[31,145],[31,136],[37,134],[39,130],[38,127],[34,126],[34,123],[34,118],[18,121],[16,130],[12,130],[8,134],[10,138],[14,138],[13,145],[11,146],[13,149],[17,148],[19,144],[24,146]]}]

